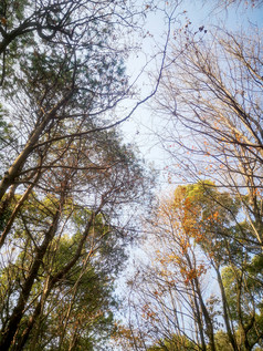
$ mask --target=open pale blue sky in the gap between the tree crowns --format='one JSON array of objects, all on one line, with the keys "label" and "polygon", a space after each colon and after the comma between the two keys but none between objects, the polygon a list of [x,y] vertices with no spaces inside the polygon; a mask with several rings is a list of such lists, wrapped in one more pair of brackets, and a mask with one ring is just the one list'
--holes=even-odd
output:
[{"label": "open pale blue sky in the gap between the tree crowns", "polygon": [[[214,3],[211,6],[211,3]],[[245,29],[249,21],[262,27],[263,24],[263,8],[252,9],[240,4],[231,6],[228,10],[222,8],[215,8],[214,1],[196,0],[188,1],[182,0],[181,4],[177,8],[173,16],[177,21],[172,24],[173,28],[179,28],[188,20],[192,23],[191,27],[198,29],[204,25],[209,30],[211,25],[225,25],[230,30],[240,28]],[[138,91],[139,97],[144,99],[155,86],[155,76],[158,75],[160,69],[160,61],[162,60],[162,51],[165,41],[167,39],[167,13],[171,13],[172,3],[168,4],[166,1],[160,2],[160,9],[155,12],[149,12],[146,18],[145,32],[148,33],[143,40],[141,49],[130,55],[127,62],[127,74],[130,76],[130,82],[136,81],[136,91]],[[141,39],[134,37],[134,41],[139,42]],[[128,104],[129,109],[134,105],[134,102]],[[161,115],[155,113],[154,100],[149,100],[146,104],[139,106],[133,116],[122,125],[122,132],[124,141],[127,143],[134,143],[136,149],[139,152],[140,157],[155,169],[160,171],[162,176],[159,178],[160,187],[166,187],[167,178],[165,175],[165,167],[167,165],[168,155],[160,146],[158,137],[155,135],[155,131],[158,130],[158,125],[161,125]]]}]

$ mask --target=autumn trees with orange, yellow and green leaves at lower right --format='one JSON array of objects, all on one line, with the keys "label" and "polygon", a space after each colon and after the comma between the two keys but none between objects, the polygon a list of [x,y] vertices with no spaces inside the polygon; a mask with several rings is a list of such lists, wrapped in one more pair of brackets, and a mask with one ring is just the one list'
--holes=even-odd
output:
[{"label": "autumn trees with orange, yellow and green leaves at lower right", "polygon": [[129,285],[133,320],[140,319],[132,330],[147,330],[147,350],[261,348],[262,251],[248,247],[242,202],[199,182],[179,186],[152,218],[150,264]]}]

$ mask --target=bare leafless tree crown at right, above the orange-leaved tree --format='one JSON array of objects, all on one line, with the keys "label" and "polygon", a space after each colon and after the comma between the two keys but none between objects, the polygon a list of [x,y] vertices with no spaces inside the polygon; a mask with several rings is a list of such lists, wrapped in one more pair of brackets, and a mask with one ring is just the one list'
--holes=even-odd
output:
[{"label": "bare leafless tree crown at right, above the orange-leaved tree", "polygon": [[[160,135],[177,164],[172,172],[185,182],[212,178],[218,186],[238,194],[254,233],[251,245],[261,247],[260,39],[257,29],[251,33],[208,32],[204,28],[187,31],[178,39],[179,47],[175,43],[172,48],[159,106],[172,115],[168,122],[172,132]],[[178,58],[176,62],[173,56]]]}]

